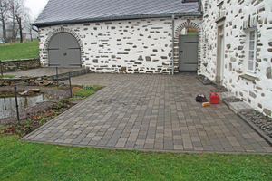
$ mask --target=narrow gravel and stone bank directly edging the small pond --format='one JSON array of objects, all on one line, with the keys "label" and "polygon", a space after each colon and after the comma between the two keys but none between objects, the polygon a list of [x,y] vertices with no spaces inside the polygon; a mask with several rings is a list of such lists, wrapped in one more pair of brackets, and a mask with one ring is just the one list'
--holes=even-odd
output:
[{"label": "narrow gravel and stone bank directly edging the small pond", "polygon": [[[55,88],[44,88],[38,86],[17,86],[17,91],[24,91],[29,89],[40,89],[41,92],[47,93],[50,100],[37,103],[33,107],[28,107],[24,110],[19,111],[20,119],[28,119],[35,115],[36,113],[43,112],[44,110],[49,110],[55,103],[56,100],[63,98],[68,98],[70,93],[69,90],[59,90]],[[0,91],[14,91],[13,86],[0,87]],[[11,117],[0,119],[0,124],[7,124],[16,121],[16,113],[12,114]]]}]

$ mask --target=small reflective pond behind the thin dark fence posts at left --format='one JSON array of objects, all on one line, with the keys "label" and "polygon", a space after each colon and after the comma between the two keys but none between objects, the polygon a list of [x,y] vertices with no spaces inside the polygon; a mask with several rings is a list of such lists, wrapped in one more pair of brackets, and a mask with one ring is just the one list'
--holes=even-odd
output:
[{"label": "small reflective pond behind the thin dark fence posts at left", "polygon": [[[46,93],[20,95],[17,93],[19,110],[32,107],[39,102],[49,100]],[[16,112],[15,91],[0,91],[0,119],[5,119]]]}]

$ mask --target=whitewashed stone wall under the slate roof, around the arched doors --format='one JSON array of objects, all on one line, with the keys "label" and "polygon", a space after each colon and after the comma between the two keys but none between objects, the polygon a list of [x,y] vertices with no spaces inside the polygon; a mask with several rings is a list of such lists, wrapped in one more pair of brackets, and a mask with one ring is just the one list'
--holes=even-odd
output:
[{"label": "whitewashed stone wall under the slate roof, around the arched doors", "polygon": [[[186,26],[193,26],[201,31],[201,23],[200,17],[175,18],[174,69],[176,73],[179,72],[178,33]],[[82,48],[83,66],[89,67],[93,72],[170,74],[172,71],[171,26],[171,18],[152,18],[40,28],[41,62],[47,66],[47,46],[53,35],[67,32],[73,34]],[[200,50],[201,45],[199,45]]]}]

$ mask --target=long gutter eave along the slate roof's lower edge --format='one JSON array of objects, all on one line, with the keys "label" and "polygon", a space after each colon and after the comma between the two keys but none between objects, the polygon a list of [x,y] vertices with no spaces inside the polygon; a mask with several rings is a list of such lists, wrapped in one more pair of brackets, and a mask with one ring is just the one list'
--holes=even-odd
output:
[{"label": "long gutter eave along the slate roof's lower edge", "polygon": [[34,23],[33,25],[37,27],[45,27],[50,25],[57,24],[83,24],[83,23],[91,23],[91,22],[106,22],[106,21],[114,21],[114,20],[131,20],[131,19],[143,19],[143,18],[162,18],[162,17],[171,17],[175,16],[202,16],[201,12],[194,13],[175,13],[175,14],[142,14],[142,15],[126,15],[126,16],[116,16],[116,17],[102,17],[102,18],[88,18],[88,19],[75,19],[75,20],[64,20],[64,21],[56,21],[56,22],[44,22],[44,23]]}]

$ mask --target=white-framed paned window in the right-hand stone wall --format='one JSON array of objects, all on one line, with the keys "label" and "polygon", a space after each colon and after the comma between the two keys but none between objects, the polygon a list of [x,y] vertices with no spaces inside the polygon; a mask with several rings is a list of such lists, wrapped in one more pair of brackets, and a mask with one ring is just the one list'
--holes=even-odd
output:
[{"label": "white-framed paned window in the right-hand stone wall", "polygon": [[248,32],[248,71],[255,72],[257,55],[257,30]]}]

